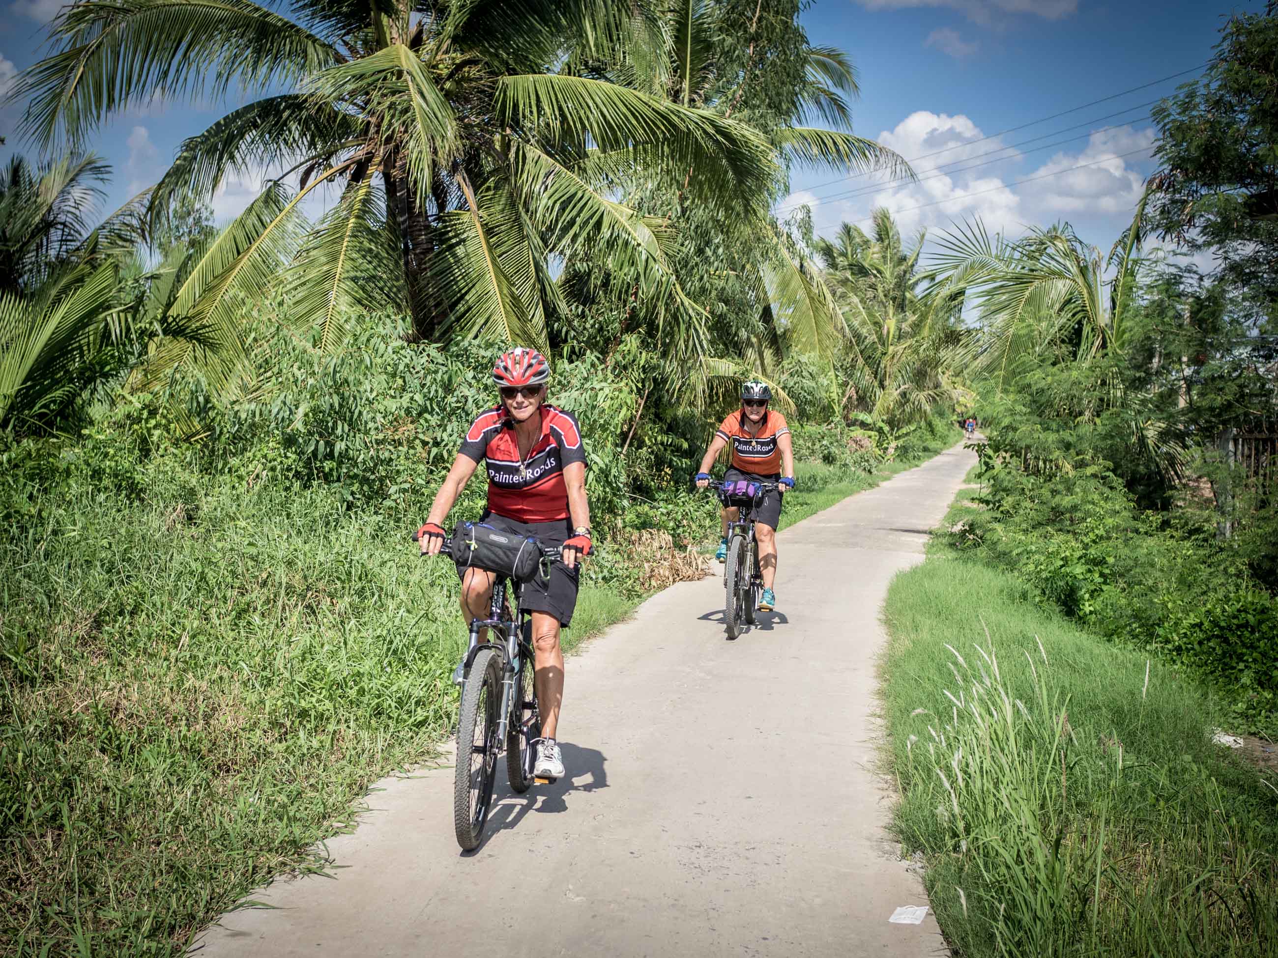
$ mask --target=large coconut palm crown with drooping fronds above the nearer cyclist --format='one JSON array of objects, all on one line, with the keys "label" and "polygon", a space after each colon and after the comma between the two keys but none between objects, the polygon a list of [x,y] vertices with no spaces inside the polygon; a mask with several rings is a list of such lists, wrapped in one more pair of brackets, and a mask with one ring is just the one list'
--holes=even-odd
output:
[{"label": "large coconut palm crown with drooping fronds above the nearer cyclist", "polygon": [[[289,15],[252,0],[82,0],[13,96],[32,97],[24,129],[47,147],[157,96],[279,91],[189,138],[152,197],[158,216],[233,171],[272,171],[225,239],[236,258],[213,290],[259,295],[295,254],[294,319],[320,324],[325,345],[357,310],[387,307],[427,337],[544,345],[551,263],[587,250],[649,299],[693,309],[668,224],[615,199],[629,175],[688,171],[690,198],[751,215],[777,176],[748,125],[610,79],[606,66],[665,50],[652,13],[620,0],[290,0]],[[322,188],[340,198],[305,229],[300,204]]]}]

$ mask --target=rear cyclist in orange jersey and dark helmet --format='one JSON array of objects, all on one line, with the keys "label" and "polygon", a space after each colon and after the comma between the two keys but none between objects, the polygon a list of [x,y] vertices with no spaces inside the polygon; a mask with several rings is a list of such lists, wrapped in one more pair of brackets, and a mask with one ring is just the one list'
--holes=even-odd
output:
[{"label": "rear cyclist in orange jersey and dark helmet", "polygon": [[[697,487],[704,488],[709,480],[711,465],[720,451],[732,443],[732,464],[723,474],[723,482],[754,479],[777,483],[783,488],[795,488],[795,459],[790,442],[790,427],[786,418],[768,409],[772,390],[767,383],[751,379],[741,386],[741,409],[730,413],[720,428],[714,430],[711,447],[702,457],[702,468],[697,474]],[[785,468],[782,469],[782,464]],[[714,558],[723,562],[727,558],[727,524],[736,521],[736,508],[723,510],[722,538]],[[759,571],[763,572],[763,595],[759,609],[771,612],[777,605],[772,591],[777,575],[777,522],[781,521],[781,494],[768,493],[759,503],[759,519],[754,534],[759,543]]]}]

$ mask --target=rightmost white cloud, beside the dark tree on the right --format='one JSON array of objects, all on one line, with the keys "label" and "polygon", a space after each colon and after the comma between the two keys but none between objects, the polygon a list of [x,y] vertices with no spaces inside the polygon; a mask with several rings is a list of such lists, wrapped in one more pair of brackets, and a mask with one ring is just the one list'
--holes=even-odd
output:
[{"label": "rightmost white cloud, beside the dark tree on the right", "polygon": [[[1026,184],[1025,192],[1033,194],[1035,208],[1052,215],[1130,213],[1145,185],[1130,163],[1149,158],[1153,147],[1153,129],[1125,125],[1093,133],[1082,152],[1057,153],[1031,172],[1047,179]],[[1127,156],[1132,152],[1136,156]]]}]

